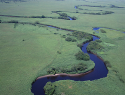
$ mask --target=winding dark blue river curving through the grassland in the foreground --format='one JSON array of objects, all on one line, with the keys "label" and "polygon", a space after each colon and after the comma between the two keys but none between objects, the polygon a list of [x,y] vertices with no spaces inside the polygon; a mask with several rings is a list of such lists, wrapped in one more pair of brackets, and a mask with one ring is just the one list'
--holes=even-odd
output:
[{"label": "winding dark blue river curving through the grassland in the foreground", "polygon": [[[99,39],[98,37],[93,36],[93,41]],[[82,51],[84,53],[88,53],[86,50],[87,45],[89,42],[85,43],[82,47]],[[53,76],[53,77],[44,77],[36,80],[32,84],[32,93],[34,95],[45,95],[43,87],[48,81],[55,82],[59,80],[74,80],[74,81],[86,81],[86,80],[96,80],[100,78],[107,77],[108,70],[104,64],[104,62],[98,58],[96,55],[92,53],[88,53],[90,56],[90,59],[95,63],[95,68],[91,73],[88,73],[83,76],[79,77],[69,77],[69,76]]]}]

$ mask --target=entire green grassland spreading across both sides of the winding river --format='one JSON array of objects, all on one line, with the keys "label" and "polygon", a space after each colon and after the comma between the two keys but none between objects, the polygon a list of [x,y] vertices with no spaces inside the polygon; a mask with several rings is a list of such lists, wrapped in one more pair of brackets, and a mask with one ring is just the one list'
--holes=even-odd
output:
[{"label": "entire green grassland spreading across both sides of the winding river", "polygon": [[[94,53],[109,61],[108,75],[94,81],[56,81],[54,94],[57,95],[124,95],[125,94],[125,8],[110,8],[110,5],[124,7],[123,0],[37,0],[27,2],[0,2],[0,15],[12,16],[42,16],[52,18],[19,18],[0,16],[0,20],[18,22],[36,21],[41,24],[53,25],[60,28],[83,31],[100,37],[99,43],[104,48],[93,50]],[[106,6],[88,7],[87,10],[78,10],[77,5]],[[90,15],[83,12],[98,12],[96,10],[113,11],[113,14]],[[68,16],[75,16],[76,20],[58,19],[59,14],[52,11],[61,11]],[[75,12],[79,13],[75,13]],[[106,31],[96,33],[93,27]],[[111,29],[106,29],[111,28]],[[114,30],[112,30],[114,29]],[[119,30],[119,31],[116,31]],[[0,94],[1,95],[33,95],[32,82],[41,75],[47,75],[51,67],[70,67],[83,62],[87,64],[85,71],[91,70],[94,63],[76,60],[75,54],[80,51],[77,42],[67,42],[62,35],[71,33],[43,25],[29,25],[14,23],[0,23]],[[61,52],[61,54],[58,53]],[[85,72],[84,71],[84,72]]]}]

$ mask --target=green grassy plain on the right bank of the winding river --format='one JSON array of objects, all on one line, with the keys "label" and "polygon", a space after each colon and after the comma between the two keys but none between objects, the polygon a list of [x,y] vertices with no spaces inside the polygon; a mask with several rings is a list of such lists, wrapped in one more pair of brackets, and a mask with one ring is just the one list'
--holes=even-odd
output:
[{"label": "green grassy plain on the right bank of the winding river", "polygon": [[[119,31],[105,29],[106,33],[98,33],[103,50],[94,51],[105,61],[109,61],[108,75],[94,81],[62,80],[54,84],[57,95],[124,95],[125,94],[125,34]],[[117,34],[115,34],[117,33]],[[110,35],[112,34],[112,35]],[[114,35],[115,34],[115,35]]]}]

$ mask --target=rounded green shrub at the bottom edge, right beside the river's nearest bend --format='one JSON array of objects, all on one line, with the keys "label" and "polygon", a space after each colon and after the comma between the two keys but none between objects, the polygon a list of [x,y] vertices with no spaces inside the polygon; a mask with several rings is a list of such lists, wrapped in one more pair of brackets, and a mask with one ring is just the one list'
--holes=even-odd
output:
[{"label": "rounded green shrub at the bottom edge, right beside the river's nearest bend", "polygon": [[53,95],[55,91],[55,85],[51,82],[47,82],[44,86],[44,91],[46,95]]}]

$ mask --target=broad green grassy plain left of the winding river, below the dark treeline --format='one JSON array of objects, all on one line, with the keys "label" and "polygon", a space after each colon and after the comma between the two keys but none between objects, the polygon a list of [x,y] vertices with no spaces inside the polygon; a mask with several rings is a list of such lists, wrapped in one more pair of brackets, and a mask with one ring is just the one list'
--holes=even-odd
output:
[{"label": "broad green grassy plain left of the winding river, below the dark treeline", "polygon": [[85,71],[94,67],[92,61],[76,60],[74,55],[80,51],[77,42],[67,42],[61,37],[67,31],[23,24],[14,28],[14,24],[1,23],[0,33],[0,93],[3,95],[31,95],[31,83],[38,76],[47,75],[50,67],[65,68],[79,62],[87,63]]}]

